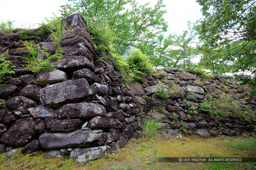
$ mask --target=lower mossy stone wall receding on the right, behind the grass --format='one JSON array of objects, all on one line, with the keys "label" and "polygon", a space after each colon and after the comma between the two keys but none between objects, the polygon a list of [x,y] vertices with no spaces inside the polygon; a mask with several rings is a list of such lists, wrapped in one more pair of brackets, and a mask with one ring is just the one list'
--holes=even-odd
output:
[{"label": "lower mossy stone wall receding on the right, behind the grass", "polygon": [[[141,110],[148,117],[161,119],[166,123],[168,134],[184,133],[201,137],[221,134],[251,135],[256,125],[255,118],[250,117],[251,123],[248,123],[242,119],[241,115],[229,114],[227,116],[224,114],[220,117],[204,112],[199,107],[199,104],[207,101],[205,98],[208,93],[212,94],[214,98],[225,95],[229,96],[231,100],[238,99],[241,104],[251,109],[252,115],[255,115],[256,101],[254,98],[248,97],[250,87],[245,86],[243,89],[239,89],[239,83],[232,76],[227,75],[220,75],[217,79],[209,76],[208,79],[202,80],[193,70],[177,68],[163,70],[153,70],[153,74],[147,77],[146,82],[131,85],[130,91],[136,96],[135,108]],[[161,76],[163,73],[166,75],[164,80]],[[169,99],[165,101],[160,100],[155,93],[162,86],[169,95]],[[197,107],[194,115],[189,114],[188,102],[190,102],[190,106]],[[243,108],[241,108],[241,112],[243,112]],[[182,126],[186,128],[183,129]]]}]

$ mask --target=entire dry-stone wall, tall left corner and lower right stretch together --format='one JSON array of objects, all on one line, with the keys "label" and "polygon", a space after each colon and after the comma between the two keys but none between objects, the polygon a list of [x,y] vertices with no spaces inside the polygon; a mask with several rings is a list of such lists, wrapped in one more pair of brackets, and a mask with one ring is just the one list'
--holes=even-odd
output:
[{"label": "entire dry-stone wall, tall left corner and lower right stretch together", "polygon": [[[172,68],[153,70],[146,82],[135,82],[128,90],[120,80],[116,62],[98,60],[95,43],[80,14],[63,21],[68,29],[64,31],[65,40],[60,42],[65,49],[62,58],[65,60],[51,61],[57,70],[34,74],[28,67],[22,67],[25,61],[20,56],[29,50],[18,42],[20,30],[0,35],[0,51],[9,50],[5,59],[16,67],[12,77],[17,77],[4,79],[2,83],[7,85],[0,89],[0,100],[4,101],[0,106],[0,152],[24,147],[24,154],[44,150],[49,155],[77,156],[77,161],[85,162],[122,148],[130,138],[139,137],[139,121],[145,117],[160,118],[170,135],[180,133],[181,122],[188,127],[188,134],[204,137],[250,135],[255,129],[255,120],[251,120],[251,125],[237,117],[220,118],[199,110],[190,115],[188,106],[182,103],[184,98],[193,96],[190,103],[198,107],[207,91],[227,89],[225,93],[231,98],[242,99],[255,110],[256,101],[247,97],[250,87],[238,89],[237,82],[224,75],[196,83],[195,71]],[[39,47],[47,47],[48,53],[55,53],[56,47],[49,35],[36,36],[35,41]],[[37,55],[39,59],[45,57],[42,52]],[[165,80],[161,80],[161,72],[167,75]],[[173,82],[177,85],[170,86]],[[161,85],[170,96],[164,105],[155,93]],[[183,90],[179,90],[181,88]]]}]

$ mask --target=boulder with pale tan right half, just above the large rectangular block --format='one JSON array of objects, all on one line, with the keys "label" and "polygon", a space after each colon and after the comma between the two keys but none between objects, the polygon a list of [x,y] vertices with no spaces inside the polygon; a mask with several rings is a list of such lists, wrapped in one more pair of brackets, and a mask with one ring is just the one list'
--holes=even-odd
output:
[{"label": "boulder with pale tan right half, just above the large rectangular block", "polygon": [[36,75],[36,83],[45,86],[48,83],[55,84],[68,80],[68,76],[61,70],[41,71]]}]

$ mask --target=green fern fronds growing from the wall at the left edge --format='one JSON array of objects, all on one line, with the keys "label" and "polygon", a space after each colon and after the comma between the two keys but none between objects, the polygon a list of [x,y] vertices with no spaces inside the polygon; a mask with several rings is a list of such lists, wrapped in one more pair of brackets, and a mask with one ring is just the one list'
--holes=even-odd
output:
[{"label": "green fern fronds growing from the wall at the left edge", "polygon": [[4,78],[5,74],[15,74],[15,72],[11,70],[12,68],[15,68],[15,67],[11,65],[12,65],[12,62],[5,60],[4,54],[0,53],[0,82]]}]

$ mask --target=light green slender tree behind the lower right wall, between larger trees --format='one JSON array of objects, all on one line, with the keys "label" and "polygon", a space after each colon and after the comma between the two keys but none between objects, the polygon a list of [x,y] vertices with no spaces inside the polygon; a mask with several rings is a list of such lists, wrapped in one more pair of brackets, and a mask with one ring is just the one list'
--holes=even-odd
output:
[{"label": "light green slender tree behind the lower right wall, between larger trees", "polygon": [[[154,49],[153,53],[150,52],[151,63],[155,67],[165,68],[190,69],[194,66],[191,60],[200,55],[200,51],[195,47],[196,30],[199,27],[197,23],[198,21],[191,27],[191,22],[188,21],[188,30],[184,31],[182,35],[173,33],[166,38],[163,35],[159,35],[154,42],[155,45],[148,45]],[[147,54],[146,51],[144,53]]]}]

